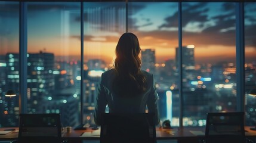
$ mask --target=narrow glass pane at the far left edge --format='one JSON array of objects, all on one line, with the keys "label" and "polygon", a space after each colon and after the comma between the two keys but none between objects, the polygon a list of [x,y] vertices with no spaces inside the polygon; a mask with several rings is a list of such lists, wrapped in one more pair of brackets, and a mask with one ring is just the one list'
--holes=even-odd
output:
[{"label": "narrow glass pane at the far left edge", "polygon": [[0,2],[0,128],[18,126],[18,96],[5,97],[19,91],[18,23],[18,2]]}]

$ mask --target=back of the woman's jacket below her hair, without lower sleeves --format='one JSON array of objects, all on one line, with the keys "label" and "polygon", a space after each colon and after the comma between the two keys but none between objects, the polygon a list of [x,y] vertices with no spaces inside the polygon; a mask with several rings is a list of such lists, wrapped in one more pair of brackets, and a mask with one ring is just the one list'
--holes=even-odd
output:
[{"label": "back of the woman's jacket below her hair, without lower sleeves", "polygon": [[[114,83],[114,79],[116,78],[115,70],[109,70],[102,74],[101,77],[101,90],[105,90],[107,105],[109,107],[110,113],[145,113],[146,101],[149,94],[156,94],[155,87],[153,86],[153,76],[146,71],[143,71],[144,76],[146,77],[148,86],[146,91],[138,94],[125,96],[127,93],[119,93],[117,94],[113,88],[115,86],[119,86]],[[119,83],[120,84],[120,83]],[[103,89],[102,89],[103,88]],[[152,93],[153,92],[153,93]],[[120,95],[124,94],[124,95]]]}]

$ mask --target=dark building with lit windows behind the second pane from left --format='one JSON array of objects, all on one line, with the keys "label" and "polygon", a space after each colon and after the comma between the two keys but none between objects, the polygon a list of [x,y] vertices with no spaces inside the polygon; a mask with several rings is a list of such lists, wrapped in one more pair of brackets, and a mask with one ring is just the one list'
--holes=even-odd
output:
[{"label": "dark building with lit windows behind the second pane from left", "polygon": [[54,94],[54,54],[27,54],[27,112],[42,113],[45,96]]}]

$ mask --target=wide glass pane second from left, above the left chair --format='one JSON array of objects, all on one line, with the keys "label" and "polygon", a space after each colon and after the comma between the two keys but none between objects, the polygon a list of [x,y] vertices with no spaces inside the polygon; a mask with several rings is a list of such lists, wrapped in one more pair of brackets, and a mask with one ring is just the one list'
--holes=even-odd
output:
[{"label": "wide glass pane second from left, above the left chair", "polygon": [[60,113],[63,126],[80,122],[80,8],[27,2],[27,112]]}]

